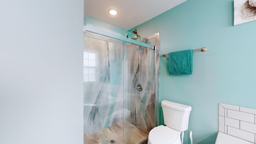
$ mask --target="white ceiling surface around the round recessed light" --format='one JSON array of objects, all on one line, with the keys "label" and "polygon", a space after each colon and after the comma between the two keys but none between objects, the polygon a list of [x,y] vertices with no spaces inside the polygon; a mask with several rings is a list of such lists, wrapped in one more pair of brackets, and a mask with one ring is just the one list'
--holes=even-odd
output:
[{"label": "white ceiling surface around the round recessed light", "polygon": [[[103,22],[130,30],[186,0],[84,0],[84,17],[91,16]],[[108,14],[116,8],[118,14]]]}]

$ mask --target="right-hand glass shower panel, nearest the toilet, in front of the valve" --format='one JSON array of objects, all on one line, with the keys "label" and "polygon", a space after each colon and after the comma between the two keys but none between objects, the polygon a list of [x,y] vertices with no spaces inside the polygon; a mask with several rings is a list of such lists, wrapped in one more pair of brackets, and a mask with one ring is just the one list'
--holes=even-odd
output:
[{"label": "right-hand glass shower panel, nearest the toilet, in front of the valve", "polygon": [[[130,117],[124,126],[124,144],[140,144],[147,140],[155,127],[155,70],[154,50],[127,44],[124,52],[128,72],[124,76]],[[126,75],[127,74],[127,75]]]}]

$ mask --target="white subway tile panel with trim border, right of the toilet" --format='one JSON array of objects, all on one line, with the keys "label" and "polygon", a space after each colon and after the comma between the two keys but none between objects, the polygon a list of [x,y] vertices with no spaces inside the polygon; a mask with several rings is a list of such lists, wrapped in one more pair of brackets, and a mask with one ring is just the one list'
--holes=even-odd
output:
[{"label": "white subway tile panel with trim border, right of the toilet", "polygon": [[219,104],[219,132],[256,143],[256,110]]}]

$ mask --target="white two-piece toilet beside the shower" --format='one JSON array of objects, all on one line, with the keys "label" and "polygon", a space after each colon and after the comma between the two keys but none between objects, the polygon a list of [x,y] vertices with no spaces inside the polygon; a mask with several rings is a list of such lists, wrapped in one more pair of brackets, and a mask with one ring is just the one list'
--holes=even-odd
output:
[{"label": "white two-piece toilet beside the shower", "polygon": [[180,134],[188,130],[191,106],[163,100],[164,124],[150,130],[148,144],[181,144]]}]

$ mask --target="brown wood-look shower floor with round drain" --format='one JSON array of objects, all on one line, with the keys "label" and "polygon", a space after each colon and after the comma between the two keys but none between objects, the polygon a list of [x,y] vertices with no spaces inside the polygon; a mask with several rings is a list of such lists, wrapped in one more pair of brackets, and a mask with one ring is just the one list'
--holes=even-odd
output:
[{"label": "brown wood-look shower floor with round drain", "polygon": [[84,144],[146,144],[149,131],[127,120],[94,134],[84,134]]}]

